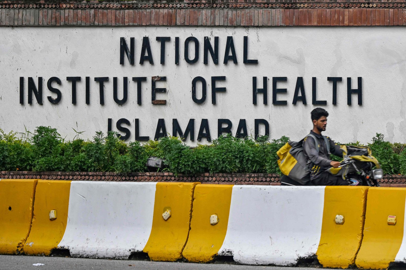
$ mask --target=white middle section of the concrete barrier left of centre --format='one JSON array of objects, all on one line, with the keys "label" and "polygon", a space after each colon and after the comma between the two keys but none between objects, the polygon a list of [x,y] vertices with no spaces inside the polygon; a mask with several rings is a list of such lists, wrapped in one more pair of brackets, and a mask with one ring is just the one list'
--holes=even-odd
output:
[{"label": "white middle section of the concrete barrier left of centre", "polygon": [[69,249],[72,257],[90,258],[127,259],[141,252],[152,228],[155,186],[73,181],[68,222],[58,248]]}]

